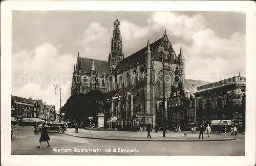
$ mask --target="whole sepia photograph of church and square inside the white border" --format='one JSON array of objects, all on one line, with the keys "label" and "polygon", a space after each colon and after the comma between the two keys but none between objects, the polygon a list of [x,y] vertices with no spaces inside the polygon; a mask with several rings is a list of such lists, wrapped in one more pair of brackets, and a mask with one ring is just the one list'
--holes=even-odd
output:
[{"label": "whole sepia photograph of church and square inside the white border", "polygon": [[245,16],[13,11],[11,154],[244,156]]}]

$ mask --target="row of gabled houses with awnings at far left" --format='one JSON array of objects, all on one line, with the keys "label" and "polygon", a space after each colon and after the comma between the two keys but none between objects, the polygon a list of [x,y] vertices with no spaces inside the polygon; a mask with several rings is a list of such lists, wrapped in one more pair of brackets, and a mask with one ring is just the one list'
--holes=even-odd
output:
[{"label": "row of gabled houses with awnings at far left", "polygon": [[[48,105],[42,99],[23,98],[11,96],[11,117],[16,121],[25,122],[34,119],[43,121],[58,121],[59,115],[56,113],[55,105]],[[27,121],[26,121],[27,122]]]}]

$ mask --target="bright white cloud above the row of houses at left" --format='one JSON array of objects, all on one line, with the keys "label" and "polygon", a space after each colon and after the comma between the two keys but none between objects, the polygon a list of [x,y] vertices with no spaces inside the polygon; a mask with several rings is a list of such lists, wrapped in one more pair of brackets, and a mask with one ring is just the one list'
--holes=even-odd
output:
[{"label": "bright white cloud above the row of houses at left", "polygon": [[[75,60],[72,54],[60,54],[57,46],[50,43],[13,54],[12,75],[16,75],[12,82],[13,95],[44,99],[45,102],[52,99],[51,103],[58,104],[53,85],[59,84],[62,98],[66,100],[70,97],[72,64]],[[18,79],[22,76],[25,84]],[[29,78],[35,78],[35,81]]]}]

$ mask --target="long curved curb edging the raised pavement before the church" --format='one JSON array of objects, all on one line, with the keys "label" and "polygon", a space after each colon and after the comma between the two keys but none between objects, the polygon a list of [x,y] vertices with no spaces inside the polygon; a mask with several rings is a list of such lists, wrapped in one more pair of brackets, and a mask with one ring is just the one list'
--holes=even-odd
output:
[{"label": "long curved curb edging the raised pavement before the church", "polygon": [[110,139],[100,137],[88,137],[88,136],[76,136],[72,134],[63,133],[69,136],[74,136],[82,139],[94,139],[94,140],[114,140],[114,141],[151,141],[151,142],[209,142],[209,141],[232,141],[236,139],[222,139],[222,140],[134,140],[134,139]]}]

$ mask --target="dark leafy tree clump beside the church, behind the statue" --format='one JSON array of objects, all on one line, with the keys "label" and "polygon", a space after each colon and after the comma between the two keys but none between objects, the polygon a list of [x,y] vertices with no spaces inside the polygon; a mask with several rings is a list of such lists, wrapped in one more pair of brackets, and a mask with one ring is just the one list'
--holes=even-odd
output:
[{"label": "dark leafy tree clump beside the church, behind the statue", "polygon": [[74,94],[72,95],[61,111],[65,112],[65,119],[69,119],[72,123],[83,122],[89,126],[89,117],[93,117],[92,123],[96,124],[97,114],[105,113],[104,110],[109,106],[105,104],[105,94],[99,90],[92,90],[87,94]]}]

